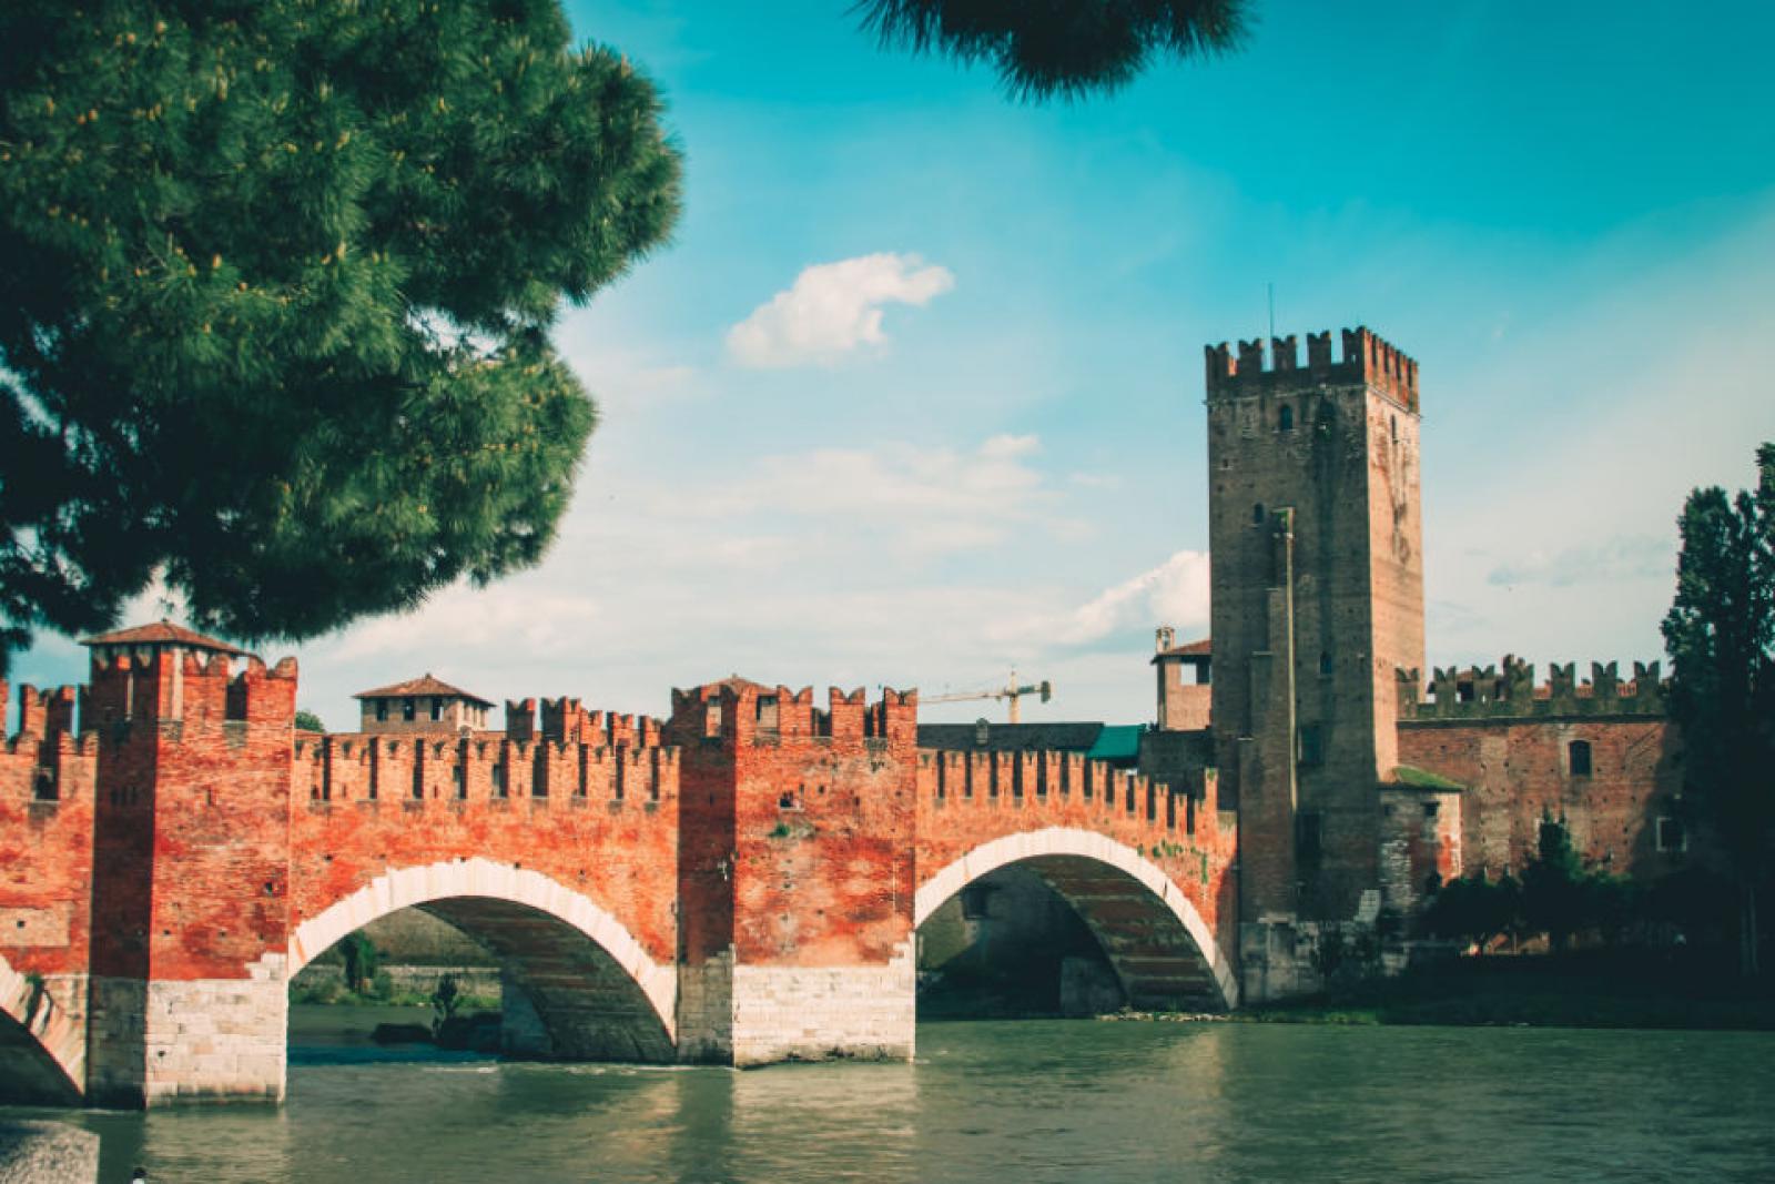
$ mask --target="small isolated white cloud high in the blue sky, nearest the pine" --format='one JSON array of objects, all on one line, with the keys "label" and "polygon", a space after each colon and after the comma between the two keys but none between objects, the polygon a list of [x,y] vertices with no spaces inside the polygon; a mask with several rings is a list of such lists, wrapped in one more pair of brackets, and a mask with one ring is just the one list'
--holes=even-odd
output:
[{"label": "small isolated white cloud high in the blue sky, nearest the pine", "polygon": [[832,362],[857,346],[886,344],[882,305],[923,307],[953,286],[948,268],[923,266],[918,256],[820,263],[730,328],[728,353],[760,369]]}]

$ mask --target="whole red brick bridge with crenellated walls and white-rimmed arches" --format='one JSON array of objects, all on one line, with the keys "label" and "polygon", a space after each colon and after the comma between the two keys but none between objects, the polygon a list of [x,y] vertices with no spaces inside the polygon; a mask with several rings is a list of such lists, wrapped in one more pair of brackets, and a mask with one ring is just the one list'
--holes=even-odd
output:
[{"label": "whole red brick bridge with crenellated walls and white-rimmed arches", "polygon": [[0,749],[0,1097],[279,1099],[289,976],[408,907],[501,959],[518,1056],[911,1056],[918,927],[1006,864],[1132,1005],[1235,1003],[1212,774],[919,749],[916,692],[744,680],[664,722],[556,699],[321,737],[293,660],[124,635],[78,692],[23,687]]}]

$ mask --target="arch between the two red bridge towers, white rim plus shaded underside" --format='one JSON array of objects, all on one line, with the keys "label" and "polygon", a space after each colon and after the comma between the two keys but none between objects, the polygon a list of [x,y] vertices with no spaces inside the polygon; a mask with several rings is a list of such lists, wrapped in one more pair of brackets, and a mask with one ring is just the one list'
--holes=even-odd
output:
[{"label": "arch between the two red bridge towers, white rim plus shaded underside", "polygon": [[[385,872],[300,921],[289,937],[289,975],[401,909],[422,909],[499,957],[509,1051],[556,1060],[674,1060],[676,966],[655,962],[584,893],[479,856]],[[513,989],[522,999],[509,998]]]}]

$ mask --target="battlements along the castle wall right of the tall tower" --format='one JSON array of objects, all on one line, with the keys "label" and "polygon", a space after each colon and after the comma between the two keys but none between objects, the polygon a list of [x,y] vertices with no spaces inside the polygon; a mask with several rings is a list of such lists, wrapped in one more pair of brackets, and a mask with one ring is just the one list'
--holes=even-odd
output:
[{"label": "battlements along the castle wall right of the tall tower", "polygon": [[1535,667],[1503,655],[1502,669],[1436,667],[1431,682],[1415,669],[1399,671],[1399,719],[1507,719],[1530,715],[1661,715],[1665,683],[1658,662],[1635,662],[1622,682],[1619,662],[1590,662],[1590,678],[1578,682],[1578,666],[1555,662],[1548,680],[1535,683]]}]

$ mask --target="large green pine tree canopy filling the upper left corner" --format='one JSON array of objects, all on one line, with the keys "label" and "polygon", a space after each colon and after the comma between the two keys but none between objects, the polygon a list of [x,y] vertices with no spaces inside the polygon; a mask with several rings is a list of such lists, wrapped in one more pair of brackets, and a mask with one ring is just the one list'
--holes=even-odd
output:
[{"label": "large green pine tree canopy filling the upper left corner", "polygon": [[156,573],[304,637],[540,559],[547,327],[664,241],[651,85],[557,0],[0,5],[0,660]]}]

